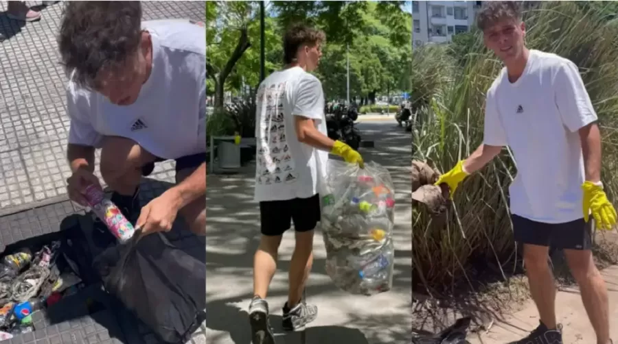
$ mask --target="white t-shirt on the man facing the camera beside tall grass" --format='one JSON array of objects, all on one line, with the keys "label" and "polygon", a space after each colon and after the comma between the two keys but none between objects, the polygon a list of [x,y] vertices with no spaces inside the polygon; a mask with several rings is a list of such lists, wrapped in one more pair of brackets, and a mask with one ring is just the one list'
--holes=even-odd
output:
[{"label": "white t-shirt on the man facing the camera beside tall grass", "polygon": [[516,82],[502,70],[487,93],[483,143],[508,145],[514,153],[512,214],[542,223],[582,219],[585,174],[577,131],[596,120],[573,62],[531,50]]}]

